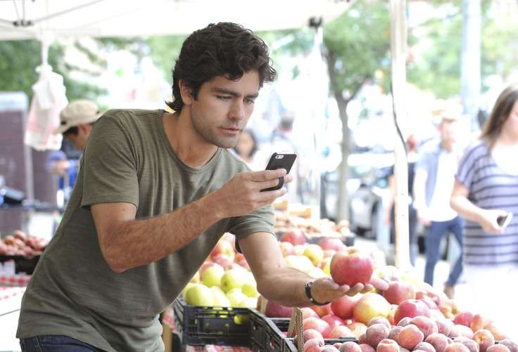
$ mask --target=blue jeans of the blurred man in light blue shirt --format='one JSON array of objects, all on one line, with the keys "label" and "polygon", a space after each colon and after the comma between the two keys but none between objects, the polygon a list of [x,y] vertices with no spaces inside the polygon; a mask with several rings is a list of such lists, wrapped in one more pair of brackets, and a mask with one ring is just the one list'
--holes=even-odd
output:
[{"label": "blue jeans of the blurred man in light blue shirt", "polygon": [[[424,237],[424,253],[427,257],[427,264],[424,267],[424,282],[434,286],[434,270],[439,260],[439,247],[441,240],[446,233],[451,232],[455,235],[462,250],[462,229],[464,228],[464,219],[460,216],[450,221],[432,221],[428,229],[426,237]],[[455,266],[450,269],[450,275],[446,280],[446,285],[455,285],[462,273],[462,253],[455,262]]]}]

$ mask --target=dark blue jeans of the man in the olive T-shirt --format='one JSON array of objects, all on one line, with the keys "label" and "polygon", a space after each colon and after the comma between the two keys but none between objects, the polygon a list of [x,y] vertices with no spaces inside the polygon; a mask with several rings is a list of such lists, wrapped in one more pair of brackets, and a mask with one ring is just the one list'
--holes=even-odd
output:
[{"label": "dark blue jeans of the man in the olive T-shirt", "polygon": [[42,335],[20,339],[22,352],[102,352],[99,348],[61,335]]}]

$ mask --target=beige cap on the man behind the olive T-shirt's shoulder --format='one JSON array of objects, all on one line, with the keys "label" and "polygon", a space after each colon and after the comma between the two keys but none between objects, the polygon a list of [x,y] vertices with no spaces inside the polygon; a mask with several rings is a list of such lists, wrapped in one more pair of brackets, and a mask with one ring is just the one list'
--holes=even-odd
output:
[{"label": "beige cap on the man behind the olive T-shirt's shoulder", "polygon": [[91,124],[96,122],[101,117],[101,112],[96,103],[87,99],[80,99],[72,101],[63,110],[61,110],[59,117],[61,125],[52,131],[53,134],[63,133],[70,127],[75,127],[78,124]]}]

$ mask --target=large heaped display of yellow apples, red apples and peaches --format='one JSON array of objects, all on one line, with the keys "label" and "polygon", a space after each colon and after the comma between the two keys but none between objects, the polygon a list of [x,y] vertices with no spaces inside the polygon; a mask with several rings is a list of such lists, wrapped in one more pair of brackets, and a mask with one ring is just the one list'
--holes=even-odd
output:
[{"label": "large heaped display of yellow apples, red apples and peaches", "polygon": [[[279,247],[289,266],[313,278],[329,275],[348,285],[366,282],[371,275],[388,282],[385,291],[343,296],[326,306],[301,308],[304,351],[518,352],[518,344],[498,322],[462,308],[423,282],[413,269],[387,266],[372,253],[346,246],[343,235],[310,243],[305,235],[309,226],[282,219],[282,227],[276,228],[282,228]],[[319,234],[329,231],[327,228]],[[268,318],[291,318],[293,308],[267,301],[257,292],[246,259],[235,251],[234,240],[227,233],[218,242],[184,290],[187,304],[255,308]],[[329,344],[330,339],[344,337],[354,341]],[[296,338],[286,339],[296,344]]]}]

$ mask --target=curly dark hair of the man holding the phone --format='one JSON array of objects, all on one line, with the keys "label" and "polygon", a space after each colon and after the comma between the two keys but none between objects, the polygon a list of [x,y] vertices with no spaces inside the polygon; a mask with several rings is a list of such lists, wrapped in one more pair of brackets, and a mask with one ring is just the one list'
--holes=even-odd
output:
[{"label": "curly dark hair of the man holding the phone", "polygon": [[180,79],[192,89],[192,96],[196,99],[203,83],[219,76],[236,81],[249,71],[258,72],[259,88],[277,78],[263,39],[235,23],[211,23],[185,39],[172,70],[173,100],[166,104],[172,110],[182,110]]}]

